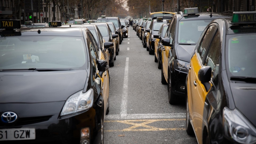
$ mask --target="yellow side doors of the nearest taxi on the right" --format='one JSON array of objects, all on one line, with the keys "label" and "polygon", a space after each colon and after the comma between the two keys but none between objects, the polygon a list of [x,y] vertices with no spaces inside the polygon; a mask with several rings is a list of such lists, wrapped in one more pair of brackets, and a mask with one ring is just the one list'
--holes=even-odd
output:
[{"label": "yellow side doors of the nearest taxi on the right", "polygon": [[[217,64],[216,60],[219,60],[218,58],[215,58],[212,56],[212,52],[210,53],[211,58],[209,59],[210,55],[207,54],[208,47],[212,49],[211,51],[216,50],[216,48],[213,48],[214,46],[218,44],[213,44],[217,43],[218,40],[220,39],[219,37],[214,37],[217,30],[217,25],[212,24],[208,27],[206,32],[204,33],[204,36],[198,45],[197,51],[195,55],[192,57],[191,62],[190,62],[190,82],[189,82],[189,91],[188,92],[188,108],[189,108],[189,115],[192,119],[192,124],[196,132],[196,136],[198,139],[199,144],[202,144],[202,126],[203,126],[203,113],[204,113],[204,104],[205,104],[205,98],[209,90],[207,91],[204,87],[204,85],[199,81],[198,79],[198,71],[200,68],[202,68],[204,65],[212,65],[212,61],[210,60],[211,58],[214,60],[214,62]],[[219,33],[217,34],[219,35]],[[217,36],[216,35],[216,36]],[[208,56],[208,58],[207,58]],[[218,57],[218,56],[217,56]],[[206,60],[210,60],[210,62],[204,62]],[[203,65],[204,64],[204,65]],[[216,69],[215,69],[216,70]],[[212,84],[211,84],[212,86]]]}]

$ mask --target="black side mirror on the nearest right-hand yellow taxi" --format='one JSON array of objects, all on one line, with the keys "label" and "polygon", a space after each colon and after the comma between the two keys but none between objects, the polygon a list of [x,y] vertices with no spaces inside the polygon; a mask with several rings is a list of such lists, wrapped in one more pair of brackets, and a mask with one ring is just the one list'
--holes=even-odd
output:
[{"label": "black side mirror on the nearest right-hand yellow taxi", "polygon": [[198,71],[198,79],[204,85],[206,92],[208,92],[211,87],[211,84],[209,84],[211,77],[212,68],[210,66],[205,66]]}]

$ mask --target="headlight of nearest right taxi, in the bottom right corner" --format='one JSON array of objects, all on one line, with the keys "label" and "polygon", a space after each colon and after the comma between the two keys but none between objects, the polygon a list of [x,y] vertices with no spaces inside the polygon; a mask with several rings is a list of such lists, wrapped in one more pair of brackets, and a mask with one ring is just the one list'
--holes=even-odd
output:
[{"label": "headlight of nearest right taxi, in the bottom right corner", "polygon": [[256,129],[236,108],[225,107],[222,115],[225,136],[243,144],[256,142]]}]

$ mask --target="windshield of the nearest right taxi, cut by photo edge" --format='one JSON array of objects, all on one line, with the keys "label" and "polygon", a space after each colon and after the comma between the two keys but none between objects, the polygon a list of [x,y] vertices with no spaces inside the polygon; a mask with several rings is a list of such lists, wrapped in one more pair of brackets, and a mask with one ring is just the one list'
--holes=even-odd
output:
[{"label": "windshield of the nearest right taxi, cut by photo edge", "polygon": [[256,77],[256,34],[227,35],[227,65],[231,76]]}]

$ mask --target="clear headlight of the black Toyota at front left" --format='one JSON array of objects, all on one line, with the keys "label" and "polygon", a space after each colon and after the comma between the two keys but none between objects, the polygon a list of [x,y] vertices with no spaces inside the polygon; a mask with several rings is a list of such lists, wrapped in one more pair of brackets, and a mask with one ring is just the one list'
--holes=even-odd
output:
[{"label": "clear headlight of the black Toyota at front left", "polygon": [[83,90],[71,95],[65,102],[64,107],[60,113],[60,116],[73,114],[79,111],[83,111],[92,107],[93,104],[93,90],[90,88],[87,92],[83,93]]}]

